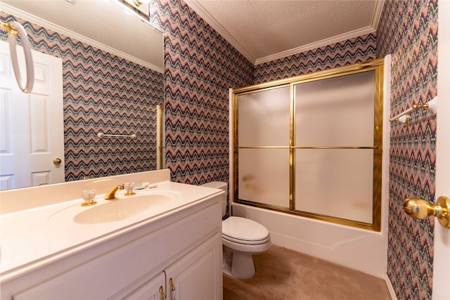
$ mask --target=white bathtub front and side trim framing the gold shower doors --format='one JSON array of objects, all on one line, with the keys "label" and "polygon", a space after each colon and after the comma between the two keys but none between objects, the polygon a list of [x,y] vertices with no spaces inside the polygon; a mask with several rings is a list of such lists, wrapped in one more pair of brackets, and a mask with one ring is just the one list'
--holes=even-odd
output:
[{"label": "white bathtub front and side trim framing the gold shower doors", "polygon": [[[383,117],[383,181],[381,185],[381,230],[375,232],[327,223],[302,216],[285,214],[268,209],[259,209],[249,205],[233,203],[233,216],[241,216],[261,223],[269,230],[273,244],[292,249],[296,252],[316,256],[347,268],[378,278],[386,277],[387,252],[387,202],[389,199],[389,138],[390,138],[390,69],[391,56],[385,57],[384,74],[384,117]],[[232,115],[230,119],[232,119]],[[233,122],[230,130],[233,132]],[[230,146],[232,147],[232,145]],[[233,148],[230,161],[233,161]],[[233,171],[230,171],[233,183]],[[230,190],[233,190],[233,185]],[[233,202],[230,193],[230,203]]]}]

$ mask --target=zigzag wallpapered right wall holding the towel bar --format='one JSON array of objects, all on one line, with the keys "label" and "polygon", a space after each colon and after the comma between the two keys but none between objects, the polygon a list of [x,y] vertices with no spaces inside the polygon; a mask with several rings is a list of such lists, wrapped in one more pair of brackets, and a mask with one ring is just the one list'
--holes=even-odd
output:
[{"label": "zigzag wallpapered right wall holding the towel bar", "polygon": [[[437,0],[386,1],[377,56],[392,53],[391,116],[437,95]],[[435,201],[436,119],[391,125],[387,275],[398,299],[431,299],[434,219],[411,219],[407,197]]]}]

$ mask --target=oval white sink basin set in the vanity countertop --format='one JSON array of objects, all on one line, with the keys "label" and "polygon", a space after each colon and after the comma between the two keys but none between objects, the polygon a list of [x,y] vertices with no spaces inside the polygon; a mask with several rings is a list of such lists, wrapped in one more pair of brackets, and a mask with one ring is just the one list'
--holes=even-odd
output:
[{"label": "oval white sink basin set in the vanity countertop", "polygon": [[94,205],[94,207],[77,214],[73,220],[80,224],[119,221],[137,214],[161,209],[173,200],[174,197],[163,194],[131,195],[105,204]]}]

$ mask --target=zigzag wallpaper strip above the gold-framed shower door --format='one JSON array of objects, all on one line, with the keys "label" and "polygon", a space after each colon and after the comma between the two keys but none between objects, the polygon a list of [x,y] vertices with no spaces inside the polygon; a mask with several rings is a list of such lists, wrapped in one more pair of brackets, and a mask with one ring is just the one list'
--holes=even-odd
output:
[{"label": "zigzag wallpaper strip above the gold-framed shower door", "polygon": [[255,65],[255,84],[364,63],[375,58],[376,34],[365,34]]}]

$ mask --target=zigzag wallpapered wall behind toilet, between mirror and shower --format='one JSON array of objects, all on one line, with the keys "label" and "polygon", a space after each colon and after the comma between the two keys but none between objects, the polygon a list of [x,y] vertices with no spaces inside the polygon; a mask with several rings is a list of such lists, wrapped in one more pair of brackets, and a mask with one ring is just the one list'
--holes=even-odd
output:
[{"label": "zigzag wallpapered wall behind toilet, between mirror and shower", "polygon": [[229,88],[253,65],[183,1],[160,0],[165,39],[166,167],[172,181],[229,181]]}]

